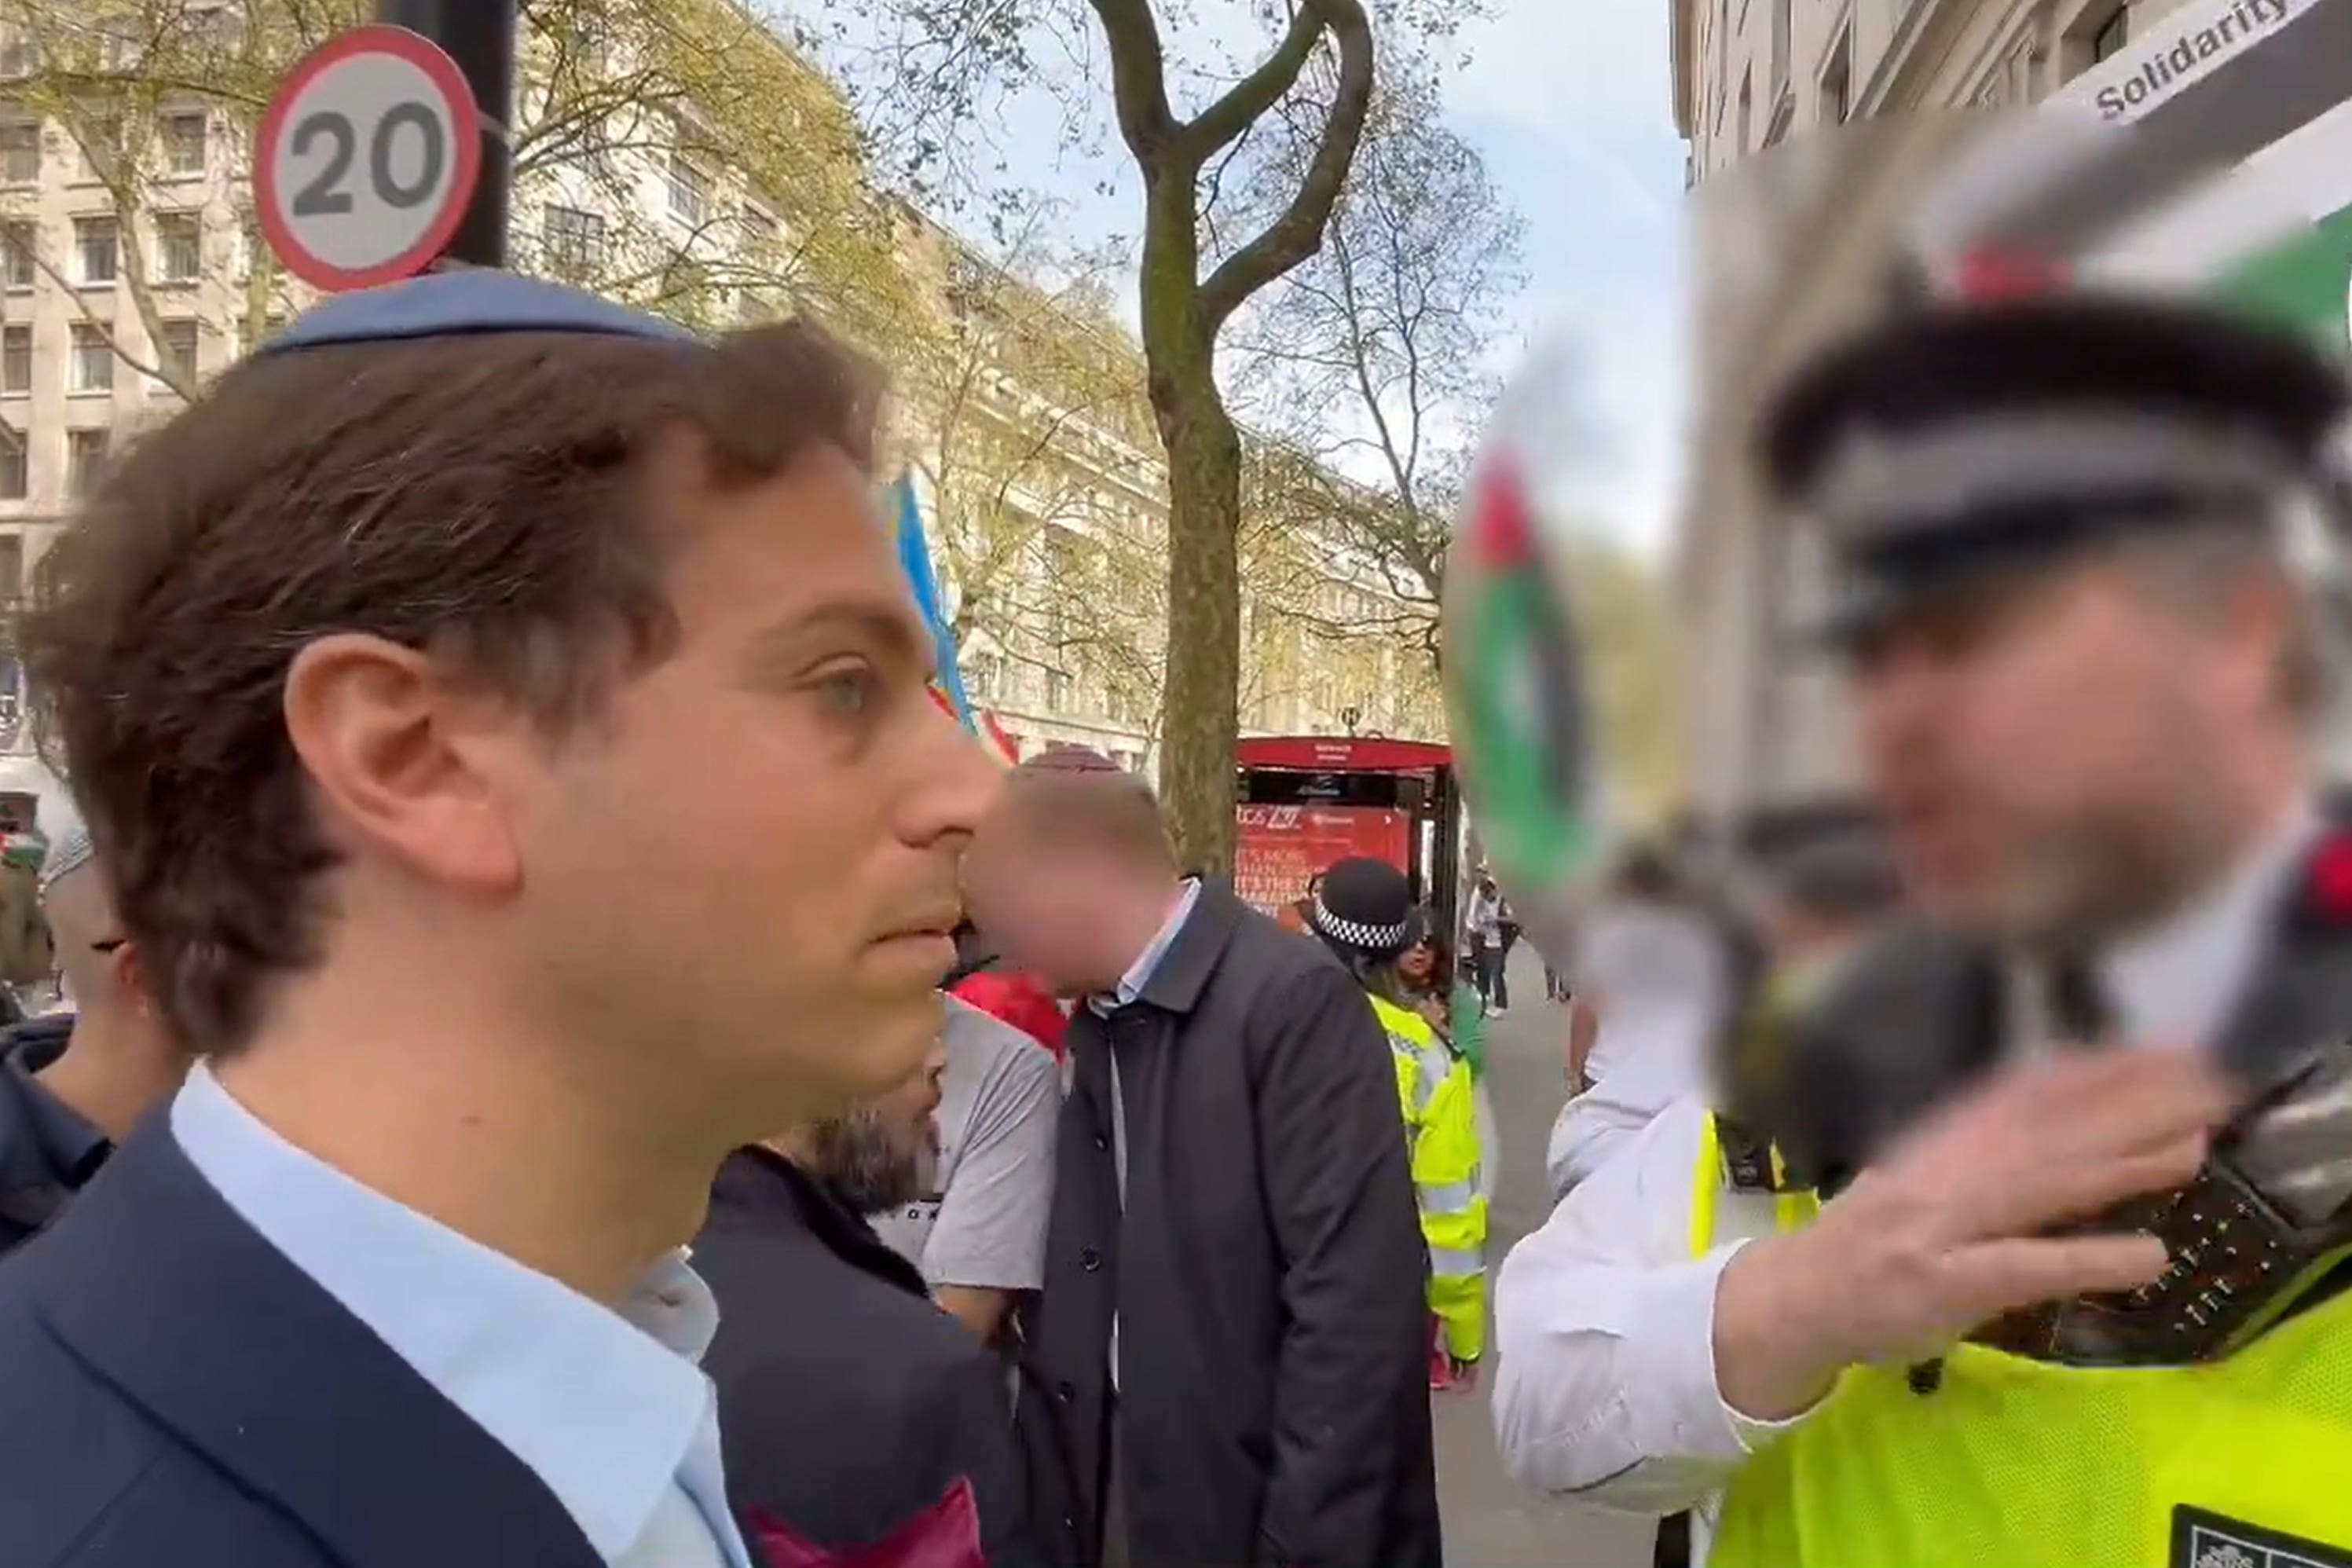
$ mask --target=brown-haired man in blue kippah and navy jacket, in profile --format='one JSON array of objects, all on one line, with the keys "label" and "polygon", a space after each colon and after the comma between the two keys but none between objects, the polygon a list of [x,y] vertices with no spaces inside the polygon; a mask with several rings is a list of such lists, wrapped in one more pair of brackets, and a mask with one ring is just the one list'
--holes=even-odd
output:
[{"label": "brown-haired man in blue kippah and navy jacket, in profile", "polygon": [[442,273],[61,531],[31,689],[200,1065],[0,1269],[0,1563],[755,1568],[684,1248],[922,1067],[997,785],[877,418],[811,322]]}]

